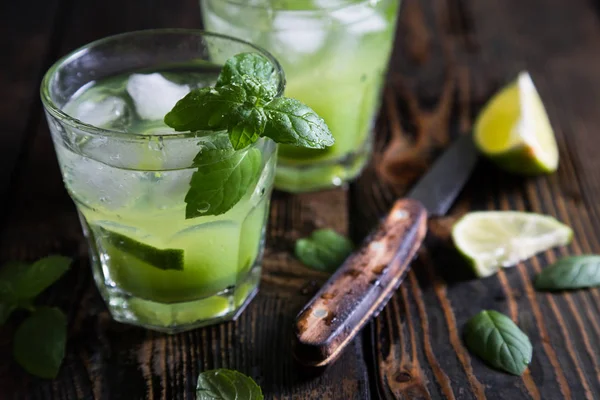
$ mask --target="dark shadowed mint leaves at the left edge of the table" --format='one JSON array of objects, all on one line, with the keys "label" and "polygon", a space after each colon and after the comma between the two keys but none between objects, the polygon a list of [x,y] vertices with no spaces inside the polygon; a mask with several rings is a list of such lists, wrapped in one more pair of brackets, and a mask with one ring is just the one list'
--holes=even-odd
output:
[{"label": "dark shadowed mint leaves at the left edge of the table", "polygon": [[48,256],[33,264],[9,262],[0,267],[0,325],[13,311],[32,314],[15,332],[15,360],[29,373],[52,379],[65,354],[67,319],[57,308],[36,307],[35,298],[69,269],[72,260]]}]

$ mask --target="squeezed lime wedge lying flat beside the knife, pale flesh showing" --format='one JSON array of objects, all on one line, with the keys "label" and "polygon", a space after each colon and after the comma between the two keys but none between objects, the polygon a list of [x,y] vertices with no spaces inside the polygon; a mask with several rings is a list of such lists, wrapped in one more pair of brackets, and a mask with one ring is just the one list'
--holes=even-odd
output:
[{"label": "squeezed lime wedge lying flat beside the knife, pale flesh showing", "polygon": [[479,277],[571,241],[573,231],[547,215],[517,211],[472,212],[452,228],[456,248]]}]

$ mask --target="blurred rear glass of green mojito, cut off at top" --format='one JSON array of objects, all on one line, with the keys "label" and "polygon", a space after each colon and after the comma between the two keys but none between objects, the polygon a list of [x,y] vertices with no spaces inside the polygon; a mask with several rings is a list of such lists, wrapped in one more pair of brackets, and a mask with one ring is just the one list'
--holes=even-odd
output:
[{"label": "blurred rear glass of green mojito, cut off at top", "polygon": [[279,146],[275,187],[343,185],[362,171],[392,49],[399,0],[201,0],[209,31],[241,37],[283,65],[286,93],[325,119],[335,144]]}]

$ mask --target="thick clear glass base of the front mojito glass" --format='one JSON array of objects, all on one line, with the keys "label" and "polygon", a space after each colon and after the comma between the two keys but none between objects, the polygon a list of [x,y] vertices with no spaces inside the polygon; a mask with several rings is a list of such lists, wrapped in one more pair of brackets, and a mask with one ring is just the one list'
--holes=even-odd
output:
[{"label": "thick clear glass base of the front mojito glass", "polygon": [[260,265],[256,264],[243,281],[213,296],[180,302],[159,303],[130,295],[98,282],[98,288],[113,318],[164,333],[178,333],[223,321],[235,320],[258,292]]}]

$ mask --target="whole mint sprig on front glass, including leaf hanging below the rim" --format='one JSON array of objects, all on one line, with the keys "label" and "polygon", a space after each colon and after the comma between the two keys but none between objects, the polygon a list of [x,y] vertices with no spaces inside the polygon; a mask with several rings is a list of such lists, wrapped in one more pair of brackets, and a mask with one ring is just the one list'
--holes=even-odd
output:
[{"label": "whole mint sprig on front glass, including leaf hanging below the rim", "polygon": [[[275,98],[278,89],[267,58],[241,53],[227,60],[215,87],[191,91],[167,113],[165,124],[176,131],[226,131],[231,145],[200,150],[194,160],[198,171],[185,197],[186,218],[223,214],[256,183],[262,170],[260,152],[235,151],[261,137],[311,149],[333,145],[323,118],[298,100]],[[216,160],[219,156],[223,158]]]}]

